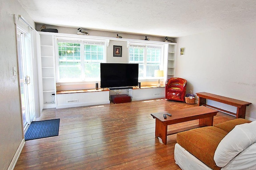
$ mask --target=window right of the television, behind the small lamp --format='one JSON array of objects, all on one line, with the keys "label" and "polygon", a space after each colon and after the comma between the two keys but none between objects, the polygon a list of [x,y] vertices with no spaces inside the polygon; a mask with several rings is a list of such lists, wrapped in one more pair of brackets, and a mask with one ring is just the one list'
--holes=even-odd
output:
[{"label": "window right of the television, behind the small lamp", "polygon": [[154,70],[163,68],[163,45],[130,44],[129,63],[139,64],[139,78],[154,77]]}]

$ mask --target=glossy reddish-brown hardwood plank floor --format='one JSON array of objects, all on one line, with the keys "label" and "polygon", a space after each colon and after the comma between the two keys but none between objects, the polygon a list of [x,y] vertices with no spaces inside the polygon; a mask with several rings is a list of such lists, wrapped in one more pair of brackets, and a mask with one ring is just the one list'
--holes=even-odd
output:
[{"label": "glossy reddish-brown hardwood plank floor", "polygon": [[[174,160],[176,134],[167,145],[155,138],[150,113],[194,107],[159,100],[124,104],[44,109],[39,120],[60,118],[59,136],[26,141],[15,170],[180,170]],[[218,112],[214,124],[235,119]],[[198,120],[168,126],[197,124]]]}]

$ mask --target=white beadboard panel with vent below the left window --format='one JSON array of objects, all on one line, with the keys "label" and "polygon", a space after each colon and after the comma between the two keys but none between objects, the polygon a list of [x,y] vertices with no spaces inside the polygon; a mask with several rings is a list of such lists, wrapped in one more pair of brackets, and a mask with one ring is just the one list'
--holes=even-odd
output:
[{"label": "white beadboard panel with vent below the left window", "polygon": [[[78,102],[68,102],[78,100]],[[109,91],[57,94],[56,108],[109,104]]]}]

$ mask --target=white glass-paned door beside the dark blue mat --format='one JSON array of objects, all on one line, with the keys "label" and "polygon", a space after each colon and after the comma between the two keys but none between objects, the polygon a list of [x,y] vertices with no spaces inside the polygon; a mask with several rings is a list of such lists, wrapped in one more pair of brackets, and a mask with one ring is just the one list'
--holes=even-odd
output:
[{"label": "white glass-paned door beside the dark blue mat", "polygon": [[20,98],[24,131],[35,117],[30,33],[17,27]]}]

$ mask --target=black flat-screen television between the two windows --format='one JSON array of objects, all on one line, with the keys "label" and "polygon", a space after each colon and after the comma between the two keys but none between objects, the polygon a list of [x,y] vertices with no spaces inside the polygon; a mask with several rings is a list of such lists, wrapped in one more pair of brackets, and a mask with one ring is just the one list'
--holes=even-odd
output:
[{"label": "black flat-screen television between the two windows", "polygon": [[100,63],[100,88],[138,86],[138,64]]}]

